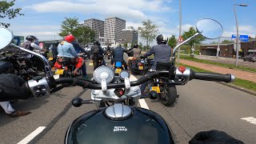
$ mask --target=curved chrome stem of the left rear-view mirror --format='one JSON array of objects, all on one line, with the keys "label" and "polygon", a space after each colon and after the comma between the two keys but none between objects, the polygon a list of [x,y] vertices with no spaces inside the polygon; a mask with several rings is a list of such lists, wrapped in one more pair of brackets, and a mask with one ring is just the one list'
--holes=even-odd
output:
[{"label": "curved chrome stem of the left rear-view mirror", "polygon": [[22,48],[22,47],[20,47],[20,46],[16,46],[16,45],[14,45],[14,44],[11,44],[10,46],[17,47],[19,50],[26,51],[26,52],[28,52],[28,53],[30,53],[30,54],[34,54],[34,55],[38,56],[38,58],[41,58],[41,60],[42,60],[42,62],[43,62],[43,64],[44,64],[44,66],[45,66],[45,72],[46,72],[47,77],[50,78],[51,76],[53,76],[53,74],[52,74],[52,72],[51,72],[51,68],[50,68],[49,62],[48,62],[48,60],[47,60],[46,57],[44,57],[44,56],[42,56],[41,54],[38,54],[38,53],[36,53],[36,52],[34,52],[34,51],[27,50],[27,49]]}]

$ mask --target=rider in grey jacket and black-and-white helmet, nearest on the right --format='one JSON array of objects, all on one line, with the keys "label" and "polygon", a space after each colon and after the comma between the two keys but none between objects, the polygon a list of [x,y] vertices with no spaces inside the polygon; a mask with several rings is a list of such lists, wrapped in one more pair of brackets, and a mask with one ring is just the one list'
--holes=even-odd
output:
[{"label": "rider in grey jacket and black-and-white helmet, nearest on the right", "polygon": [[[146,58],[151,54],[154,54],[154,65],[151,67],[152,70],[156,69],[157,62],[170,62],[171,56],[171,47],[166,45],[168,42],[168,37],[164,34],[159,34],[156,38],[158,45],[152,46],[150,51],[146,52],[142,56],[142,58]],[[142,83],[141,85],[141,92],[144,94],[144,90],[146,89],[146,85],[149,82]]]}]

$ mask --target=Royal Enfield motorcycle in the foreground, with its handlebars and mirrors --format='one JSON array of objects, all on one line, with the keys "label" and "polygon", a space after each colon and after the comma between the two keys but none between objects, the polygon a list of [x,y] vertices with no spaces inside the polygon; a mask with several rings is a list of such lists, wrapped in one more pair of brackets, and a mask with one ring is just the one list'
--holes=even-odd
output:
[{"label": "Royal Enfield motorcycle in the foreground, with its handlebars and mirrors", "polygon": [[[24,88],[30,90],[34,96],[38,94],[49,95],[50,92],[58,90],[56,89],[58,84],[63,83],[92,89],[90,100],[74,98],[72,105],[79,107],[82,104],[95,102],[99,103],[100,109],[92,110],[75,119],[66,131],[65,143],[173,144],[175,143],[174,134],[166,121],[152,110],[137,107],[139,98],[156,99],[158,93],[152,90],[149,94],[140,95],[138,85],[159,77],[170,79],[168,85],[171,86],[185,85],[192,79],[214,82],[233,82],[235,79],[232,74],[195,72],[184,66],[175,66],[175,51],[179,46],[199,34],[212,39],[219,38],[222,34],[222,26],[212,19],[200,20],[197,23],[197,30],[198,33],[174,48],[169,70],[154,71],[139,78],[138,81],[131,82],[130,74],[126,70],[122,70],[118,75],[118,80],[114,80],[116,78],[114,71],[107,66],[100,66],[94,70],[93,82],[79,78],[58,78],[55,80],[52,74],[48,74],[46,78],[41,77],[26,82]],[[12,36],[10,31],[4,28],[1,28],[0,32],[0,34]],[[5,45],[8,45],[8,42]],[[0,48],[4,46],[0,46]],[[47,59],[45,60],[45,64],[47,64]],[[46,65],[46,67],[49,66]]]}]

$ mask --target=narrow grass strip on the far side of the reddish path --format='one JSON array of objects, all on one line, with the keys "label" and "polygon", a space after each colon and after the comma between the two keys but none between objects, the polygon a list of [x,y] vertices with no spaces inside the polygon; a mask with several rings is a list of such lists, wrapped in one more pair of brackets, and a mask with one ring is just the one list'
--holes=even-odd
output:
[{"label": "narrow grass strip on the far side of the reddish path", "polygon": [[188,55],[180,55],[180,58],[185,59],[185,60],[189,60],[189,61],[194,61],[194,62],[206,63],[206,64],[210,64],[210,65],[214,65],[214,66],[227,67],[227,68],[230,68],[230,69],[238,69],[238,70],[246,70],[246,71],[256,72],[255,68],[246,67],[246,66],[234,66],[234,65],[231,65],[231,64],[226,64],[226,63],[221,63],[221,62],[212,62],[212,61],[208,61],[208,60],[205,60],[205,59],[192,58]]}]

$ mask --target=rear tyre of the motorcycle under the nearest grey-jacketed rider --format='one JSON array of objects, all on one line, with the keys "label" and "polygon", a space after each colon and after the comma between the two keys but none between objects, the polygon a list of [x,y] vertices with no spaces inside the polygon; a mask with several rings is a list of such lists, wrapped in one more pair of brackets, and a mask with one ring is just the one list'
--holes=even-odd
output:
[{"label": "rear tyre of the motorcycle under the nearest grey-jacketed rider", "polygon": [[164,106],[173,105],[177,98],[176,86],[164,86],[158,98]]}]

